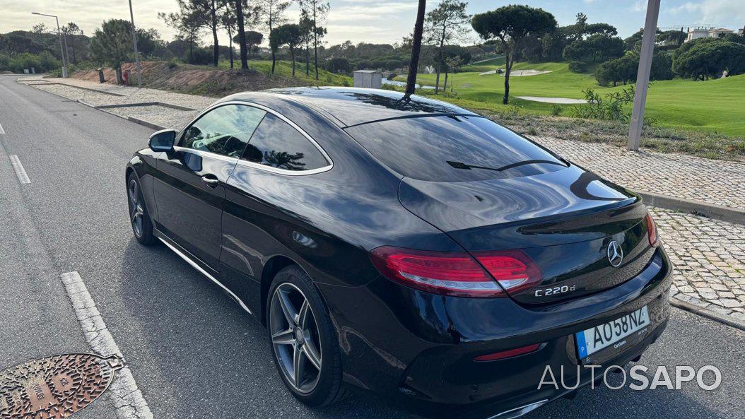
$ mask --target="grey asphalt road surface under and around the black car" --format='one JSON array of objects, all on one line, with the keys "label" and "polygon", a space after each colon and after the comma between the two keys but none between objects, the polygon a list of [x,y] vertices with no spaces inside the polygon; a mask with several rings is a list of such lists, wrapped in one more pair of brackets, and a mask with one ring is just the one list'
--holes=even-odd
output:
[{"label": "grey asphalt road surface under and around the black car", "polygon": [[[165,246],[136,243],[124,164],[150,129],[14,77],[0,77],[0,124],[0,369],[86,351],[60,281],[77,271],[156,418],[409,417],[368,394],[305,408],[282,386],[259,322]],[[641,363],[716,365],[720,388],[583,389],[527,417],[743,418],[744,348],[740,330],[673,309]]]}]

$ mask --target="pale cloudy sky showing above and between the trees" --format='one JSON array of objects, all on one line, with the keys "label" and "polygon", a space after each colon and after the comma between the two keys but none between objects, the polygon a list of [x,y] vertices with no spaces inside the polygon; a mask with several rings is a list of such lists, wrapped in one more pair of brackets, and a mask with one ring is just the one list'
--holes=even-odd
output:
[{"label": "pale cloudy sky showing above and between the trees", "polygon": [[[330,0],[326,41],[334,45],[347,39],[353,43],[398,42],[413,30],[416,0]],[[438,1],[428,1],[428,10]],[[178,10],[176,0],[132,0],[138,28],[156,28],[163,39],[171,40],[174,31],[158,19],[158,12]],[[606,22],[618,28],[622,37],[630,36],[644,26],[647,1],[639,0],[564,0],[564,1],[495,1],[471,0],[469,13],[493,10],[505,4],[528,4],[542,7],[556,16],[559,25],[574,22],[583,12],[588,22]],[[32,11],[60,16],[60,25],[75,22],[86,35],[92,35],[104,19],[129,19],[126,0],[0,0],[0,33],[30,30],[39,22],[54,28],[54,19],[31,15]],[[289,19],[297,19],[297,6],[288,10]],[[745,0],[662,0],[658,25],[661,28],[713,25],[724,28],[745,26]],[[225,42],[226,34],[220,36]],[[203,37],[211,45],[210,36]],[[473,40],[478,38],[475,34]]]}]

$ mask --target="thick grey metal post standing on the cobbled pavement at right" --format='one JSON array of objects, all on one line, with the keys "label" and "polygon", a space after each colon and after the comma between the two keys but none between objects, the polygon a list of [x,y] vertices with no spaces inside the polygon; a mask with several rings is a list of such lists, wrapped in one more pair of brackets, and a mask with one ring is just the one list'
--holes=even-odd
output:
[{"label": "thick grey metal post standing on the cobbled pavement at right", "polygon": [[636,93],[634,95],[634,108],[631,112],[631,127],[629,128],[629,144],[627,146],[627,150],[632,151],[639,150],[641,128],[644,126],[644,106],[647,103],[652,54],[657,37],[659,1],[649,0],[647,3],[647,20],[644,22],[644,36],[641,39],[641,57],[639,57],[639,68],[636,75]]}]

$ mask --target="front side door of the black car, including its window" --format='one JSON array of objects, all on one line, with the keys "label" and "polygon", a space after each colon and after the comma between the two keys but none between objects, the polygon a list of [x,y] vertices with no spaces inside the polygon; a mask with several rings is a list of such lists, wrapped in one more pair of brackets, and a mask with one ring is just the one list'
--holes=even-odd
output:
[{"label": "front side door of the black car, including its window", "polygon": [[264,113],[238,103],[209,109],[157,161],[157,228],[215,272],[225,184]]}]

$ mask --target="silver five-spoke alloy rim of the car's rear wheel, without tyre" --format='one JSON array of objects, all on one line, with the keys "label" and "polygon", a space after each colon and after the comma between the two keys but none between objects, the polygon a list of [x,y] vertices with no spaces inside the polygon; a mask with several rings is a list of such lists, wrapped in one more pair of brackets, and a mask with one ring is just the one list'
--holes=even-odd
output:
[{"label": "silver five-spoke alloy rim of the car's rear wheel, without tyre", "polygon": [[320,335],[313,310],[298,287],[276,287],[269,309],[269,330],[279,368],[300,393],[310,393],[321,371]]}]

